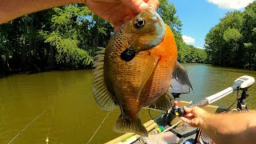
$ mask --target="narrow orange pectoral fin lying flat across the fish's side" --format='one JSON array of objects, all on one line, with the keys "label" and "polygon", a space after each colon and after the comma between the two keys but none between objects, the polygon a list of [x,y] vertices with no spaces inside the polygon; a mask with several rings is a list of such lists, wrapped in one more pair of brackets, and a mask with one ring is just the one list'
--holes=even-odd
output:
[{"label": "narrow orange pectoral fin lying flat across the fish's side", "polygon": [[150,78],[151,74],[154,71],[154,68],[158,65],[159,58],[160,57],[155,56],[154,54],[150,54],[150,60],[146,64],[146,68],[145,68],[144,74],[142,75],[141,86],[138,89],[137,101],[138,101],[138,99],[139,99],[139,97],[141,95],[142,88],[145,86],[146,82]]}]

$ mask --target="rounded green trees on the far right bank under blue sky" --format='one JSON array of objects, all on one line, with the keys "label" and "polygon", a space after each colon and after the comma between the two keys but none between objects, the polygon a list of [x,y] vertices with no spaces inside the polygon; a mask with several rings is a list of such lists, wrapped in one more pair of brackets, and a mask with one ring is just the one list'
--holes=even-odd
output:
[{"label": "rounded green trees on the far right bank under blue sky", "polygon": [[214,65],[256,70],[256,1],[243,12],[226,13],[205,40],[206,53]]}]

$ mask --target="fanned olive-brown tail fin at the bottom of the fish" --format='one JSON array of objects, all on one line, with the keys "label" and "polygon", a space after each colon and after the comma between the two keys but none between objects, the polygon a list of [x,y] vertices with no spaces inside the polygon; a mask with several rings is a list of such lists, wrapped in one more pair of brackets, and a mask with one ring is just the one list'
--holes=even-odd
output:
[{"label": "fanned olive-brown tail fin at the bottom of the fish", "polygon": [[139,118],[130,119],[127,115],[123,114],[118,117],[114,131],[117,133],[137,133],[142,136],[148,136],[149,134]]}]

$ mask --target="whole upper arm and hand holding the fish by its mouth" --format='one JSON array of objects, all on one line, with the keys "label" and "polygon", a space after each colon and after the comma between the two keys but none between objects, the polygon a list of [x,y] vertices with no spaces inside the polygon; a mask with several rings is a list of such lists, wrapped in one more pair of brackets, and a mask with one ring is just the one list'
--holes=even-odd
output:
[{"label": "whole upper arm and hand holding the fish by its mouth", "polygon": [[133,19],[149,6],[158,8],[158,0],[2,0],[0,2],[0,24],[56,6],[85,3],[99,17],[114,24],[114,29]]}]

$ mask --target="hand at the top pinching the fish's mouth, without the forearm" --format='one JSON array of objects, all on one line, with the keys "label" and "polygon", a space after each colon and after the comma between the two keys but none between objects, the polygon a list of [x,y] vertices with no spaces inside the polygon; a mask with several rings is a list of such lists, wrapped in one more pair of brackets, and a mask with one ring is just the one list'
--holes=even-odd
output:
[{"label": "hand at the top pinching the fish's mouth, without the forearm", "polygon": [[117,30],[149,6],[158,8],[158,0],[85,0],[86,6],[99,17],[114,24]]}]

